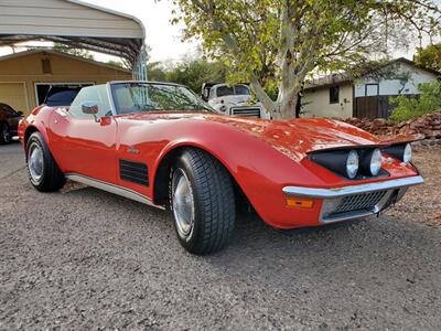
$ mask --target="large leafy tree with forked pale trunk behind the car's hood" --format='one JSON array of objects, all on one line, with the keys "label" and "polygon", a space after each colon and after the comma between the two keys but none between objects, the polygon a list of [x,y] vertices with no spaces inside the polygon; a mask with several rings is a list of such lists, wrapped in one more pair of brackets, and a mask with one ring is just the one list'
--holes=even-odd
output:
[{"label": "large leafy tree with forked pale trunk behind the car's hood", "polygon": [[[184,38],[232,71],[228,81],[250,86],[273,118],[295,114],[301,86],[316,71],[346,70],[384,54],[411,33],[433,33],[439,9],[431,0],[173,0],[172,22]],[[267,90],[278,90],[272,100]]]}]

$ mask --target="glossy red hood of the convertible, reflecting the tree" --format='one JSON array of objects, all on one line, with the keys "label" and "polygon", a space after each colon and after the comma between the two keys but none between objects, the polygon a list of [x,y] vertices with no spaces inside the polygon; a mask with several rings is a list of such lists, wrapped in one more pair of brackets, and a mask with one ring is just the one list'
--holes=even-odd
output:
[{"label": "glossy red hood of the convertible, reflecting the tree", "polygon": [[300,161],[308,152],[355,146],[384,145],[380,139],[343,121],[325,118],[299,118],[290,120],[266,120],[223,116],[207,113],[186,114],[138,114],[131,119],[148,120],[189,120],[203,121],[205,125],[218,124],[252,136],[286,156]]}]

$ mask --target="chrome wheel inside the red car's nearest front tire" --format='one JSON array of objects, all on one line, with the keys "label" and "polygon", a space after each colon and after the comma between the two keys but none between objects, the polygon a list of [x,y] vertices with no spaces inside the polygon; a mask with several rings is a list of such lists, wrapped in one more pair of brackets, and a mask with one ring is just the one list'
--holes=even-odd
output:
[{"label": "chrome wheel inside the red car's nearest front tire", "polygon": [[185,172],[180,168],[173,172],[172,204],[179,235],[184,239],[190,238],[194,227],[193,189]]}]

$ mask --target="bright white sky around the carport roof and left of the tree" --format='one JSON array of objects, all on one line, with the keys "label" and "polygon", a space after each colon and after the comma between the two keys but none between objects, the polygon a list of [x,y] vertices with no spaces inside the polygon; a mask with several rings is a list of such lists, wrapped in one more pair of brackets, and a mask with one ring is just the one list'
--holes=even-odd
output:
[{"label": "bright white sky around the carport roof and left of the tree", "polygon": [[[146,28],[146,42],[151,47],[150,61],[175,62],[185,56],[195,56],[198,51],[196,42],[182,42],[183,25],[172,25],[173,3],[171,0],[83,0],[103,8],[108,8],[137,17]],[[435,0],[439,4],[441,0]],[[32,42],[32,45],[51,45]],[[0,55],[10,53],[11,49],[0,49]],[[395,52],[394,57],[412,57],[413,47]],[[110,56],[94,54],[98,61],[114,60]]]}]

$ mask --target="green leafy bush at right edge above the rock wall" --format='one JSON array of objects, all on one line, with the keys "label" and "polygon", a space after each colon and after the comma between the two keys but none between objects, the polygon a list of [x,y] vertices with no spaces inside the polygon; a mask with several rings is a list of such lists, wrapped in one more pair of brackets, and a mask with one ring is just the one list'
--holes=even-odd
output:
[{"label": "green leafy bush at right edge above the rock wall", "polygon": [[391,121],[401,122],[441,109],[440,82],[420,84],[418,88],[421,90],[419,98],[400,95],[389,99],[389,103],[397,104],[389,117]]}]

